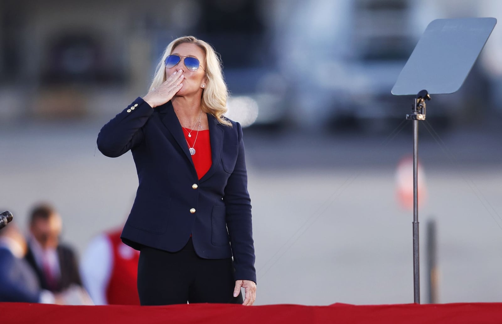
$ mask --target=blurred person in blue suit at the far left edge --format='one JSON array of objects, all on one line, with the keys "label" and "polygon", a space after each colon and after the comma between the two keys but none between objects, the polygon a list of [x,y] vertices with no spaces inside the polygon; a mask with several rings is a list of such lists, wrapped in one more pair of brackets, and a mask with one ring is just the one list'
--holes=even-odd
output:
[{"label": "blurred person in blue suit at the far left edge", "polygon": [[40,288],[37,276],[23,259],[26,240],[16,224],[0,230],[0,302],[53,303],[54,295]]}]

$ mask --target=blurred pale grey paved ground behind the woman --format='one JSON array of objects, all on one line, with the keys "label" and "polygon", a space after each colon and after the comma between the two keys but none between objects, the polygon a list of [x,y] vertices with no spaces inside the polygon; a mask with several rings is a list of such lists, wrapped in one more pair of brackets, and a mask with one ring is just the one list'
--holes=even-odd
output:
[{"label": "blurred pale grey paved ground behind the woman", "polygon": [[[102,121],[104,123],[105,120]],[[103,156],[101,122],[0,129],[0,209],[26,228],[35,201],[53,202],[79,252],[125,220],[137,186],[130,153]],[[502,143],[496,130],[422,127],[427,194],[420,209],[422,300],[426,222],[438,227],[441,302],[502,301]],[[396,199],[408,128],[371,134],[245,132],[254,211],[258,304],[413,302],[412,219]],[[410,176],[411,177],[411,176]]]}]

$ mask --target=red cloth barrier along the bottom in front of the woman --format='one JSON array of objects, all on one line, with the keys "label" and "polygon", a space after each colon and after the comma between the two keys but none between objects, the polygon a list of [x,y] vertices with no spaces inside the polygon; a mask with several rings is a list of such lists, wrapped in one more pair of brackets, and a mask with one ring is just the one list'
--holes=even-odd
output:
[{"label": "red cloth barrier along the bottom in front of the woman", "polygon": [[191,304],[61,306],[0,303],[0,323],[502,323],[502,303],[330,306]]}]

